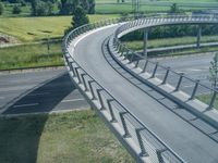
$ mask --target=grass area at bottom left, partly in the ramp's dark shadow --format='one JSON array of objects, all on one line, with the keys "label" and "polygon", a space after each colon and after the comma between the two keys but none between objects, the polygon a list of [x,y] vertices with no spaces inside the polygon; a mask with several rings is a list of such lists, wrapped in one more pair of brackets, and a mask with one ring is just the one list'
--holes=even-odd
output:
[{"label": "grass area at bottom left, partly in the ramp's dark shadow", "polygon": [[1,117],[0,133],[1,163],[134,162],[90,110]]}]

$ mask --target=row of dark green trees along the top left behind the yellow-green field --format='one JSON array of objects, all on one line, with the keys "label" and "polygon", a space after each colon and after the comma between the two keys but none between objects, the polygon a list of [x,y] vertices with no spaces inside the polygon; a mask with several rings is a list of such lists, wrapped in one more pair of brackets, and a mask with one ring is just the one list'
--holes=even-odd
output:
[{"label": "row of dark green trees along the top left behind the yellow-green field", "polygon": [[[55,14],[55,8],[59,15],[72,15],[76,7],[82,7],[87,14],[95,14],[95,0],[3,0],[14,4],[13,12],[19,14],[21,7],[31,4],[31,14],[34,16],[47,16]],[[0,2],[0,15],[4,11],[4,3]],[[57,14],[57,13],[56,13]]]}]

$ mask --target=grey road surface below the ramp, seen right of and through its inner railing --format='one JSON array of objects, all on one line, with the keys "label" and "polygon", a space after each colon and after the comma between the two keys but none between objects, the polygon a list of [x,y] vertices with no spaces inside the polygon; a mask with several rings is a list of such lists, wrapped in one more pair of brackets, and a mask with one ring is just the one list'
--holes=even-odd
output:
[{"label": "grey road surface below the ramp, seen right of and through its inner railing", "polygon": [[[158,58],[152,59],[153,61],[159,62],[159,64],[171,67],[177,73],[184,73],[185,76],[197,80],[199,79],[201,84],[211,87],[211,82],[209,82],[209,66],[210,61],[213,61],[214,53],[207,54],[196,54],[196,55],[183,55],[183,57],[175,57],[175,58]],[[140,63],[140,66],[143,68],[144,61]],[[154,65],[148,65],[147,67],[150,74],[154,71]],[[158,68],[156,73],[156,77],[164,79],[166,74],[166,70]],[[172,86],[177,86],[179,80],[179,75],[173,73],[169,73],[168,83]],[[191,95],[195,84],[189,79],[183,79],[181,84],[181,90]],[[209,93],[210,90],[199,86],[197,89],[196,95]]]}]

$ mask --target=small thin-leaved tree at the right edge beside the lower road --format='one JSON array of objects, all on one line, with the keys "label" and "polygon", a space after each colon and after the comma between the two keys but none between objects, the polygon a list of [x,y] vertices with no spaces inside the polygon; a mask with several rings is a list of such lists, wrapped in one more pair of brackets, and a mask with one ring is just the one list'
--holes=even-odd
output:
[{"label": "small thin-leaved tree at the right edge beside the lower road", "polygon": [[217,88],[218,85],[218,52],[215,53],[213,61],[210,62],[209,67],[209,80],[211,82],[211,86]]}]

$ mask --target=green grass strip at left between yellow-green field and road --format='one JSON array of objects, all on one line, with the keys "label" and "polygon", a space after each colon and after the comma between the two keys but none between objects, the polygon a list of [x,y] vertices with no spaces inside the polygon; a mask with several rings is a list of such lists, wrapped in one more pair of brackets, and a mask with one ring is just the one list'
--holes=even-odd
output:
[{"label": "green grass strip at left between yellow-green field and road", "polygon": [[0,70],[63,65],[61,42],[0,48]]}]

